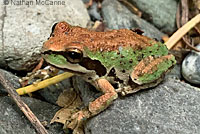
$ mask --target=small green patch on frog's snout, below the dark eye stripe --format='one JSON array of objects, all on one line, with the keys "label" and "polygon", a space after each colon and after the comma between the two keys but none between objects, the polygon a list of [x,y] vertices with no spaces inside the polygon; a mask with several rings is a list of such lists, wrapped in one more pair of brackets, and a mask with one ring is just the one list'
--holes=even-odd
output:
[{"label": "small green patch on frog's snout, below the dark eye stripe", "polygon": [[66,65],[67,60],[62,55],[50,54],[45,55],[45,58],[48,60],[49,63],[54,65]]}]

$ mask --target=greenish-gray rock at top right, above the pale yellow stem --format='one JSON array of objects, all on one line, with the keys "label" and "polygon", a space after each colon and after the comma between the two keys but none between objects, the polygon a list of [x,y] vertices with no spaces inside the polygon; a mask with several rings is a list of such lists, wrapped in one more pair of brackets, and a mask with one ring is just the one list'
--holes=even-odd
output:
[{"label": "greenish-gray rock at top right, above the pale yellow stem", "polygon": [[143,13],[148,22],[152,22],[165,33],[176,30],[176,0],[129,0]]}]

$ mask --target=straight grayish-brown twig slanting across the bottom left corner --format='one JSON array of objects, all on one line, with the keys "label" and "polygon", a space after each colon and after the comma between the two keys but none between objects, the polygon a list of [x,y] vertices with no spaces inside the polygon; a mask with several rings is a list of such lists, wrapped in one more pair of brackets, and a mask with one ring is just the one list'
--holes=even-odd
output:
[{"label": "straight grayish-brown twig slanting across the bottom left corner", "polygon": [[33,114],[30,108],[21,100],[15,88],[12,86],[8,80],[6,80],[3,76],[3,73],[0,71],[0,83],[6,88],[12,99],[18,105],[18,107],[22,110],[25,116],[29,119],[31,124],[35,127],[36,131],[39,134],[48,134],[47,130],[41,124],[41,122],[37,119],[37,117]]}]

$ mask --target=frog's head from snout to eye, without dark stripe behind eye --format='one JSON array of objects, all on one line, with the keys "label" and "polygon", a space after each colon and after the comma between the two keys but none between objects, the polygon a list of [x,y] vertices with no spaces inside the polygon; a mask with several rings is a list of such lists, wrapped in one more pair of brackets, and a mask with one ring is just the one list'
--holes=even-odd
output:
[{"label": "frog's head from snout to eye, without dark stripe behind eye", "polygon": [[87,69],[78,63],[82,61],[83,49],[81,44],[73,42],[69,32],[71,25],[66,22],[56,23],[52,33],[42,48],[43,58],[51,65],[71,71],[86,73]]}]

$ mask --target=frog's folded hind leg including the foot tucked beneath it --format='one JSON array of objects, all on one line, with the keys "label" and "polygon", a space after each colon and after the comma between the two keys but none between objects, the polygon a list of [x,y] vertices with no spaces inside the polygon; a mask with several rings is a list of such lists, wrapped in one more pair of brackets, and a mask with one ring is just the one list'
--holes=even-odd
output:
[{"label": "frog's folded hind leg including the foot tucked beneath it", "polygon": [[154,87],[159,84],[164,74],[175,65],[176,61],[173,55],[161,57],[148,56],[141,60],[134,67],[130,74],[130,88],[123,89],[121,94],[126,95],[137,92],[141,89]]}]

